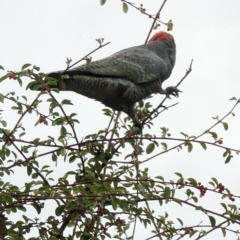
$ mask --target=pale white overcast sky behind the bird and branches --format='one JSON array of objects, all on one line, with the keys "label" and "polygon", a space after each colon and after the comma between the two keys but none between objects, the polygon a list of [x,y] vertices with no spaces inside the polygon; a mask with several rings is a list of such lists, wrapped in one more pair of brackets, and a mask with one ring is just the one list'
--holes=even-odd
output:
[{"label": "pale white overcast sky behind the bird and branches", "polygon": [[[143,3],[147,12],[152,14],[157,12],[161,2],[134,1],[138,5]],[[159,128],[168,127],[172,137],[182,137],[179,132],[198,135],[214,123],[213,116],[223,116],[230,110],[233,102],[228,100],[231,97],[240,97],[239,10],[238,0],[169,0],[166,3],[161,20],[173,20],[172,34],[177,44],[177,61],[164,87],[175,85],[189,67],[191,59],[194,62],[192,73],[180,86],[183,91],[180,98],[166,102],[166,105],[175,102],[179,104],[154,120],[152,133],[160,136]],[[96,38],[103,37],[111,44],[93,54],[93,60],[143,44],[151,24],[152,20],[131,7],[124,14],[120,0],[108,0],[104,6],[93,0],[1,1],[0,65],[5,70],[15,71],[20,70],[25,63],[41,67],[42,72],[60,70],[65,67],[66,57],[77,61],[96,48]],[[160,30],[166,30],[166,27],[161,26]],[[0,70],[0,75],[3,74],[5,72]],[[0,93],[6,94],[9,91],[26,95],[28,99],[36,96],[36,92],[25,91],[14,81],[1,83]],[[70,98],[75,104],[69,111],[79,114],[80,139],[107,125],[109,119],[102,115],[101,109],[104,106],[100,103],[75,93],[61,93],[57,98]],[[154,96],[153,106],[157,106],[162,98]],[[220,131],[226,146],[240,148],[239,107],[235,113],[235,118],[227,119],[230,124],[227,132],[223,131],[222,126],[217,127],[216,131]],[[9,127],[16,123],[17,116],[11,110],[6,110],[4,116],[8,118]],[[55,134],[49,132],[49,128],[48,132],[36,132],[37,128],[33,127],[36,118],[31,116],[29,119],[28,127],[37,135],[44,137]],[[144,131],[148,131],[147,128]],[[211,138],[208,140],[212,141]],[[181,172],[186,178],[195,177],[205,185],[211,177],[216,177],[233,193],[240,195],[240,157],[236,156],[230,164],[225,165],[222,150],[213,147],[208,149],[210,151],[204,151],[196,146],[192,154],[187,153],[186,149],[180,153],[170,152],[153,159],[146,166],[150,168],[152,176],[162,175],[166,180],[176,180],[174,172]],[[57,171],[61,176],[65,168],[58,167]],[[207,194],[201,203],[206,203],[205,206],[211,208],[219,204],[219,198],[215,200],[211,201],[210,194]],[[160,209],[159,214],[168,210],[172,209]],[[180,210],[177,207],[178,217],[190,216],[190,219],[186,217],[189,223],[198,224],[202,219],[194,211],[186,212],[188,207]],[[196,217],[188,214],[196,214]],[[206,239],[213,239],[214,236],[221,239],[222,235],[218,233]],[[148,231],[142,232],[140,228],[139,234],[141,239],[151,236]],[[232,237],[228,234],[226,239]]]}]

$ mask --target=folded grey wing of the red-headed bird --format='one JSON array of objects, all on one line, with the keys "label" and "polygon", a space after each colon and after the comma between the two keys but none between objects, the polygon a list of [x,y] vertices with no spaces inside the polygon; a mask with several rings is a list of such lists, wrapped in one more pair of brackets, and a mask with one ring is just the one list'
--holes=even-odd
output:
[{"label": "folded grey wing of the red-headed bird", "polygon": [[165,66],[163,59],[144,46],[141,47],[124,49],[107,58],[69,69],[67,73],[85,72],[105,77],[118,77],[136,84],[160,79]]}]

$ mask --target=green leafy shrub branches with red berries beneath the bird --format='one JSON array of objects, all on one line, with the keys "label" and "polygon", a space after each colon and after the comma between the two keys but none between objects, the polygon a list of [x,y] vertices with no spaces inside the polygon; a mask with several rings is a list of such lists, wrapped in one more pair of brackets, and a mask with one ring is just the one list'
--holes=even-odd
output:
[{"label": "green leafy shrub branches with red berries beneath the bird", "polygon": [[[125,0],[122,2],[125,13],[133,7],[154,19],[150,35],[152,29],[158,27],[156,22],[160,21],[160,10],[166,1],[155,17],[148,14],[143,5],[137,7]],[[105,3],[106,0],[101,0],[101,5]],[[165,25],[172,30],[171,20]],[[97,42],[99,47],[91,53],[106,45],[103,39],[97,39]],[[73,66],[70,63],[71,60],[67,59],[68,68]],[[2,66],[0,69],[4,70]],[[191,70],[192,62],[178,85]],[[223,236],[227,232],[238,235],[232,225],[240,224],[238,206],[234,204],[240,197],[216,178],[212,177],[207,185],[203,185],[194,177],[176,172],[174,179],[166,180],[164,175],[151,176],[149,169],[142,166],[173,150],[186,148],[192,153],[196,145],[207,151],[210,151],[209,146],[220,149],[225,163],[229,163],[239,151],[224,146],[215,129],[222,125],[228,130],[227,117],[234,116],[239,100],[232,98],[232,109],[222,118],[214,117],[213,125],[198,136],[181,132],[182,138],[174,138],[167,127],[161,128],[161,136],[149,133],[139,136],[131,127],[129,118],[119,121],[119,115],[105,108],[103,113],[109,118],[109,125],[80,139],[76,130],[80,124],[79,116],[75,112],[66,112],[73,103],[69,99],[56,99],[54,93],[57,94],[58,89],[52,88],[54,80],[45,79],[39,67],[24,64],[20,71],[2,76],[0,82],[16,80],[22,86],[23,78],[29,79],[27,89],[36,82],[36,89],[42,89],[33,101],[29,101],[27,96],[18,96],[14,91],[0,94],[0,104],[11,103],[12,114],[16,118],[14,127],[10,127],[4,111],[1,111],[1,239],[26,239],[28,236],[31,240],[133,239],[137,221],[152,230],[148,239],[184,239],[186,236],[200,239],[217,229],[222,231]],[[152,120],[164,113],[166,108],[161,107],[165,100],[154,109],[149,99],[138,103],[138,117],[145,124],[145,129],[151,128]],[[48,112],[41,110],[43,104]],[[173,106],[175,104],[168,108]],[[24,120],[30,117],[35,119],[35,127],[39,131],[42,125],[48,127],[44,139],[37,134],[36,138],[29,139],[29,126]],[[205,141],[205,136],[211,136],[213,141]],[[142,160],[142,156],[147,157]],[[47,159],[48,164],[44,164],[42,159]],[[54,165],[62,161],[72,165],[72,170],[56,177]],[[5,176],[13,177],[19,169],[29,179],[24,186],[4,180]],[[219,199],[221,208],[218,212],[201,205],[201,200],[210,194]],[[203,219],[208,218],[208,224],[189,225],[181,216],[173,219],[168,212],[158,214],[155,208],[165,209],[173,205],[179,209],[190,207],[193,213],[200,212]],[[30,207],[38,217],[28,214]],[[46,219],[41,217],[44,209],[48,211]],[[17,214],[21,215],[21,219],[8,219]]]}]

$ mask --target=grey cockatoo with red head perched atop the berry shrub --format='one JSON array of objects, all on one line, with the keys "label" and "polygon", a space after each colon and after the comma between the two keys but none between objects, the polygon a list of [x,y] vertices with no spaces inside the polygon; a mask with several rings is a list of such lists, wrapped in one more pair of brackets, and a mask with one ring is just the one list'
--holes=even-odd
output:
[{"label": "grey cockatoo with red head perched atop the berry shrub", "polygon": [[[100,101],[113,110],[126,113],[140,131],[135,104],[151,94],[178,96],[176,87],[162,88],[176,61],[173,36],[164,31],[155,33],[146,45],[120,50],[109,57],[72,69],[54,71],[48,77],[57,80],[60,91],[73,91]],[[67,75],[61,78],[61,74]]]}]

